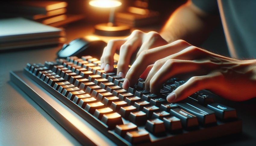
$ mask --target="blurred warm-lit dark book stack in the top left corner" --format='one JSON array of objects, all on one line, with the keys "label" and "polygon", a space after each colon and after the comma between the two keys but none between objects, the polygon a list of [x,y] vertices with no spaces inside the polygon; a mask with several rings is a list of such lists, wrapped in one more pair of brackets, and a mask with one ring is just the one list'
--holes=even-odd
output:
[{"label": "blurred warm-lit dark book stack in the top left corner", "polygon": [[54,27],[84,18],[82,15],[67,15],[66,7],[67,2],[60,1],[6,1],[0,5],[0,16],[23,17]]}]

